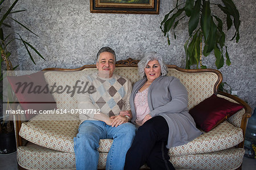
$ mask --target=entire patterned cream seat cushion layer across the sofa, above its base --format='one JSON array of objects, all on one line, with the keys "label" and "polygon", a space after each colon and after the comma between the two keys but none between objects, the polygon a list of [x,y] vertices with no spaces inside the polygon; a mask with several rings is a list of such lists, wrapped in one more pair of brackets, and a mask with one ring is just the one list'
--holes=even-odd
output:
[{"label": "entire patterned cream seat cushion layer across the sofa, above its base", "polygon": [[[72,114],[39,114],[29,122],[22,123],[19,135],[39,146],[73,153],[73,138],[78,132],[79,123],[79,118]],[[225,121],[212,131],[205,132],[183,146],[172,147],[170,155],[220,151],[236,146],[242,141],[242,129]],[[112,143],[113,139],[101,139],[98,151],[109,152]]]}]

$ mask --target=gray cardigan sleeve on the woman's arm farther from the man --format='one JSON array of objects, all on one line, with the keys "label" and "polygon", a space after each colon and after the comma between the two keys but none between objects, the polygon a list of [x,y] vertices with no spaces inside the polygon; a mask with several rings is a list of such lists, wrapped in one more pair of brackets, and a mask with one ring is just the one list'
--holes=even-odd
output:
[{"label": "gray cardigan sleeve on the woman's arm farther from the man", "polygon": [[174,78],[169,86],[169,93],[171,95],[171,101],[163,106],[156,107],[150,112],[152,117],[159,115],[160,113],[180,113],[187,109],[188,106],[188,92],[185,86],[179,79]]}]

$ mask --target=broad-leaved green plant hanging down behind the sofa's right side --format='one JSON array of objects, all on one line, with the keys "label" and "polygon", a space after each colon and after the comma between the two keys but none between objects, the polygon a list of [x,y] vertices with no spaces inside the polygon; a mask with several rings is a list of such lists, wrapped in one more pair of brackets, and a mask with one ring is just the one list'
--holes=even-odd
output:
[{"label": "broad-leaved green plant hanging down behind the sofa's right side", "polygon": [[226,15],[227,31],[234,23],[236,32],[231,40],[236,38],[236,42],[238,43],[240,39],[240,14],[234,2],[232,0],[221,0],[222,4],[210,3],[210,1],[205,0],[186,0],[185,2],[179,2],[177,0],[175,8],[165,15],[160,28],[164,32],[164,36],[167,36],[168,44],[170,45],[169,32],[173,32],[174,38],[176,39],[175,28],[177,24],[179,24],[181,19],[185,17],[189,18],[189,38],[184,44],[186,55],[185,68],[190,69],[191,65],[196,65],[197,68],[199,68],[199,65],[200,68],[206,68],[202,63],[202,56],[207,57],[212,51],[216,57],[215,64],[217,69],[220,69],[224,65],[224,53],[226,65],[230,65],[228,47],[225,45],[224,22],[217,14],[213,14],[212,9],[217,7]]}]

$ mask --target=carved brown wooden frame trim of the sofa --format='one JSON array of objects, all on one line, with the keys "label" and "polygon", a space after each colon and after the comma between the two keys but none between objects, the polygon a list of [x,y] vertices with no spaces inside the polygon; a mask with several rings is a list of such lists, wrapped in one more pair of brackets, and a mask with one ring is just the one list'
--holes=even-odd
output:
[{"label": "carved brown wooden frame trim of the sofa", "polygon": [[[129,59],[126,59],[126,60],[117,61],[115,63],[115,67],[116,68],[118,68],[118,67],[138,67],[137,66],[138,63],[139,63],[139,60],[133,60],[133,59],[129,58]],[[220,86],[220,84],[222,82],[222,74],[221,74],[220,71],[218,71],[216,69],[183,69],[183,68],[177,67],[176,65],[167,65],[167,67],[176,69],[177,71],[180,71],[180,72],[190,72],[190,73],[214,72],[214,73],[216,73],[218,75],[218,81],[214,85],[214,94],[220,94],[222,96],[231,98],[234,101],[243,105],[243,107],[245,109],[245,114],[243,114],[242,121],[241,121],[241,126],[240,126],[240,128],[243,131],[243,138],[245,138],[245,131],[246,131],[246,126],[247,126],[247,121],[251,117],[251,113],[252,113],[251,107],[245,101],[243,101],[242,99],[240,99],[236,96],[233,96],[233,95],[225,93],[225,92],[218,91],[218,86]],[[96,68],[96,65],[95,64],[93,64],[93,65],[84,65],[84,66],[82,66],[80,68],[76,68],[76,69],[46,68],[46,69],[43,69],[43,71],[81,71],[85,68]],[[15,103],[12,107],[13,107],[13,109],[15,109],[17,106],[18,106],[18,104]],[[18,120],[20,120],[19,114],[16,114],[15,115],[15,125],[16,125],[15,128],[16,128],[16,146],[17,147],[23,146],[22,137],[19,136],[19,130],[20,130],[20,127],[22,125],[22,121],[18,121]],[[237,147],[243,148],[244,143],[245,143],[245,139],[243,140],[243,142],[238,144]],[[19,169],[24,169],[24,168],[20,167],[19,165],[18,165],[18,167],[19,167]],[[242,167],[242,165],[237,169],[241,169],[241,167]]]}]

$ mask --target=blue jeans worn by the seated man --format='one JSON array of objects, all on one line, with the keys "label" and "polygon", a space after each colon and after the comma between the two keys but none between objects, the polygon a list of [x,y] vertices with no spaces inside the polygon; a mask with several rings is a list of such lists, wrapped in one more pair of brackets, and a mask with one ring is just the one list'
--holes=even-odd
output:
[{"label": "blue jeans worn by the seated man", "polygon": [[123,123],[118,127],[102,121],[84,121],[74,138],[76,169],[94,170],[98,167],[100,139],[114,139],[106,160],[106,169],[121,170],[125,165],[126,152],[135,136],[136,127]]}]

